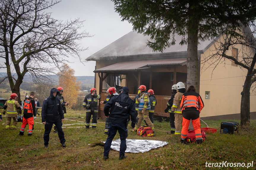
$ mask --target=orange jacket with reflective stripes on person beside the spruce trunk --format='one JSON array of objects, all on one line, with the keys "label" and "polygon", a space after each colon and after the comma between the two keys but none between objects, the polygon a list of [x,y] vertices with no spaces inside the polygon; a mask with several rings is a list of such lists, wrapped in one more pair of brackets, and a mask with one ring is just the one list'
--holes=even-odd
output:
[{"label": "orange jacket with reflective stripes on person beside the spruce trunk", "polygon": [[204,106],[203,100],[198,93],[194,91],[190,91],[190,92],[185,92],[182,95],[181,102],[180,102],[182,113],[183,111],[187,111],[187,110],[197,110],[200,113],[201,110],[203,109],[203,106]]}]

